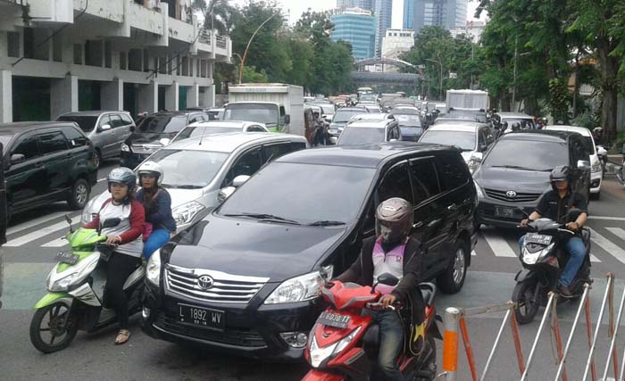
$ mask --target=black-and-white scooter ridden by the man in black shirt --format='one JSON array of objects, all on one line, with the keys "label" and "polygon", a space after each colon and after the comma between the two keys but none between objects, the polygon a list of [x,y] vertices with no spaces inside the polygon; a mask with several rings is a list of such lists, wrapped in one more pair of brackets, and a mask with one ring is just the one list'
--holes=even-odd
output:
[{"label": "black-and-white scooter ridden by the man in black shirt", "polygon": [[[569,219],[574,220],[577,216],[579,210],[573,209],[569,212]],[[527,231],[519,256],[523,269],[514,277],[516,286],[512,290],[512,302],[518,305],[514,315],[519,324],[531,322],[538,308],[546,306],[548,293],[555,292],[562,269],[568,261],[568,255],[562,246],[575,235],[575,232],[553,219],[530,221]],[[581,238],[586,247],[586,258],[569,286],[573,298],[583,294],[585,283],[592,283],[590,230],[582,228]]]}]

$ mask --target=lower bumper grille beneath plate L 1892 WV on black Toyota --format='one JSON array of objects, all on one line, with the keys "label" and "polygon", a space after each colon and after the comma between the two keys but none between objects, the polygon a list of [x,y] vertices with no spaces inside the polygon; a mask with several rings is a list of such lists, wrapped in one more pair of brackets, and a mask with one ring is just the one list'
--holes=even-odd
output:
[{"label": "lower bumper grille beneath plate L 1892 WV on black Toyota", "polygon": [[266,347],[262,335],[253,329],[227,328],[225,331],[193,327],[181,324],[175,319],[168,318],[164,313],[159,313],[154,321],[156,327],[176,335],[194,337],[213,343],[245,346],[250,348]]}]

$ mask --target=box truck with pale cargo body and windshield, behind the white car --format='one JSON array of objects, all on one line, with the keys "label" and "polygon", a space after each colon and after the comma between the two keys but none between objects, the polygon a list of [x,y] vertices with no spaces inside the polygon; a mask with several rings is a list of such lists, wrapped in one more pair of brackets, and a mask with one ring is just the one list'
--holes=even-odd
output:
[{"label": "box truck with pale cargo body and windshield, behind the white car", "polygon": [[231,85],[223,119],[256,121],[273,132],[304,137],[304,87],[282,83]]}]

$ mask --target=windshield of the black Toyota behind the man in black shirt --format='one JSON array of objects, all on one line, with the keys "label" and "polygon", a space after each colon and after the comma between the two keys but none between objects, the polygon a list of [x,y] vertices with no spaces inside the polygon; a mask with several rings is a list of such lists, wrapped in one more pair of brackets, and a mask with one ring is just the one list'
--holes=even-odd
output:
[{"label": "windshield of the black Toyota behind the man in black shirt", "polygon": [[503,139],[496,142],[482,166],[550,171],[567,162],[565,143]]}]

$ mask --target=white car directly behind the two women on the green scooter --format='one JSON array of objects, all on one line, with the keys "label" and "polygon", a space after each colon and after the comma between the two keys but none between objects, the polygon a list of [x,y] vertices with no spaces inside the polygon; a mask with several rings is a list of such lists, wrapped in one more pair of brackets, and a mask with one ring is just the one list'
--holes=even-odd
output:
[{"label": "white car directly behind the two women on the green scooter", "polygon": [[[146,161],[158,162],[164,170],[162,187],[171,195],[171,212],[180,231],[204,214],[200,212],[219,205],[222,189],[240,186],[266,162],[306,146],[306,139],[295,135],[235,132],[210,139],[188,137]],[[110,196],[104,191],[91,199],[82,212],[82,223],[93,219]]]}]

